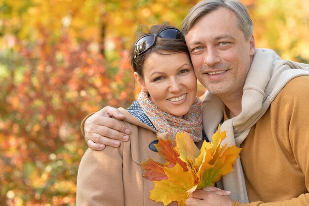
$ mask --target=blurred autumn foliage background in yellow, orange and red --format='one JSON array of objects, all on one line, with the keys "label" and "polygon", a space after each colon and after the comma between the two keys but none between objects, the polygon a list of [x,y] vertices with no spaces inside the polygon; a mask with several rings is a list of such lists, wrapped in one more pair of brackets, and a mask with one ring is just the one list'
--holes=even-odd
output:
[{"label": "blurred autumn foliage background in yellow, orange and red", "polygon": [[[0,0],[0,206],[75,206],[81,120],[135,99],[134,33],[197,1]],[[309,0],[242,1],[257,47],[309,63]]]}]

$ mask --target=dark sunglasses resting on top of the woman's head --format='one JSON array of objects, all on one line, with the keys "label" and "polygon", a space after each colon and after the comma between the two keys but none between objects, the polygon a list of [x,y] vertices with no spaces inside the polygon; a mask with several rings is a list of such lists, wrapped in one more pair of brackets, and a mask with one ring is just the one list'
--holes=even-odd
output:
[{"label": "dark sunglasses resting on top of the woman's head", "polygon": [[176,28],[166,28],[158,33],[145,35],[138,39],[134,45],[135,57],[151,48],[155,44],[157,37],[172,40],[185,40],[183,33]]}]

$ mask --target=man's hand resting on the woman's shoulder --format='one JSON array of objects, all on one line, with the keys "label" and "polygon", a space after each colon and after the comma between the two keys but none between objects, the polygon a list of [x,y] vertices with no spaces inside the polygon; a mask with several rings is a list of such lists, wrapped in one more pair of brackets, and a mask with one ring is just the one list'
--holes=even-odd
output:
[{"label": "man's hand resting on the woman's shoulder", "polygon": [[124,118],[119,110],[113,107],[104,107],[91,115],[84,124],[85,138],[88,146],[93,150],[103,150],[105,146],[120,146],[120,141],[128,141],[130,130],[115,121]]}]

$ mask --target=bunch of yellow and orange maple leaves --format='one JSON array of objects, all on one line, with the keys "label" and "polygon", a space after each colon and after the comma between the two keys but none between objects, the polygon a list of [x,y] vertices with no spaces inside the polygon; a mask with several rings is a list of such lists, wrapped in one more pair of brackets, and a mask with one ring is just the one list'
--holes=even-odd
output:
[{"label": "bunch of yellow and orange maple leaves", "polygon": [[144,177],[154,182],[150,199],[162,202],[164,206],[177,201],[179,206],[186,206],[185,201],[196,189],[214,186],[222,175],[233,170],[232,165],[239,158],[241,148],[222,146],[226,132],[213,134],[212,142],[204,141],[199,150],[189,133],[177,133],[176,146],[170,139],[158,138],[155,145],[159,155],[166,160],[161,164],[149,158],[142,162]]}]

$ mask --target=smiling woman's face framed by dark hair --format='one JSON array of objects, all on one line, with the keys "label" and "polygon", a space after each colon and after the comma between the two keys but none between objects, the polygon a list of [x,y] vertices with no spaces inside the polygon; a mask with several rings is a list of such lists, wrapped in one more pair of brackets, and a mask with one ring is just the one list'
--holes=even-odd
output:
[{"label": "smiling woman's face framed by dark hair", "polygon": [[144,77],[134,76],[143,91],[149,92],[154,103],[162,111],[183,117],[192,106],[197,89],[197,81],[190,57],[186,53],[168,55],[152,52],[143,66]]}]

